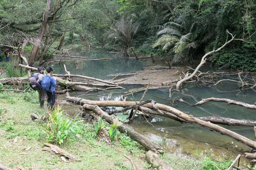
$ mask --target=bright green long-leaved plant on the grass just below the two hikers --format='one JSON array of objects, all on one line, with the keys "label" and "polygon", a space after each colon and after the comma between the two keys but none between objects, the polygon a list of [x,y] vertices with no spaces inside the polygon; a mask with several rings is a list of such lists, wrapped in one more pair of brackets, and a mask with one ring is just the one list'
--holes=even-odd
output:
[{"label": "bright green long-leaved plant on the grass just below the two hikers", "polygon": [[48,142],[63,144],[67,138],[75,133],[79,126],[76,119],[70,120],[63,115],[63,111],[58,107],[49,113],[49,121],[43,132],[46,134]]}]

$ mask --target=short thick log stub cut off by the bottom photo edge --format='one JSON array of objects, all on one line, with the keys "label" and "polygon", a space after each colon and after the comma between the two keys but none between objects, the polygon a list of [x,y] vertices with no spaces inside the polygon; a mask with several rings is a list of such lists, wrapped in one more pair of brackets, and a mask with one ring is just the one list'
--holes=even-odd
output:
[{"label": "short thick log stub cut off by the bottom photo edge", "polygon": [[153,168],[157,168],[157,170],[172,170],[168,164],[166,164],[160,156],[156,153],[148,150],[146,153],[145,159],[152,165]]}]

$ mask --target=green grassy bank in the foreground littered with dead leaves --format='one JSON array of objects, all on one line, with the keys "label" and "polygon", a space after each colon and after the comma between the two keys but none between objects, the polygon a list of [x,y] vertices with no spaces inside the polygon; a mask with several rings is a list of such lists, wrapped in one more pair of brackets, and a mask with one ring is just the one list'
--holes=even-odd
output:
[{"label": "green grassy bank in the foreground littered with dead leaves", "polygon": [[[58,154],[43,151],[47,142],[43,129],[46,124],[33,122],[31,113],[40,116],[46,111],[38,107],[36,93],[0,92],[0,163],[15,169],[73,169],[73,170],[131,170],[130,157],[138,170],[151,169],[145,160],[145,150],[128,136],[119,134],[116,142],[99,140],[93,125],[84,123],[79,135],[73,134],[60,147],[81,161],[64,162]],[[31,147],[31,149],[26,150]],[[201,161],[176,157],[165,153],[163,159],[174,170],[201,169]],[[199,168],[200,167],[200,168]]]}]

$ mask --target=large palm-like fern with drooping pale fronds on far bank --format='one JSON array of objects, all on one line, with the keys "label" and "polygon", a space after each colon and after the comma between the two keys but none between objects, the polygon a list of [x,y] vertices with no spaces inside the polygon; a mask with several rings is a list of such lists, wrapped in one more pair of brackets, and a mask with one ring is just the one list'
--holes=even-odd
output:
[{"label": "large palm-like fern with drooping pale fronds on far bank", "polygon": [[173,62],[181,62],[182,59],[187,59],[192,48],[197,47],[197,42],[194,41],[198,34],[198,29],[193,33],[195,24],[192,25],[189,33],[183,34],[183,26],[178,23],[168,22],[162,27],[163,29],[157,32],[158,39],[154,43],[153,48],[162,46],[163,51],[172,49]]}]

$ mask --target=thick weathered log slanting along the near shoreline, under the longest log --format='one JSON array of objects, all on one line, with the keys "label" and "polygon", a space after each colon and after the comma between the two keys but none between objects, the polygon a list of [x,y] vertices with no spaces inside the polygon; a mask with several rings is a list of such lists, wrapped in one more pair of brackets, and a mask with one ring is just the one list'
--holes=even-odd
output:
[{"label": "thick weathered log slanting along the near shoreline, under the longest log", "polygon": [[[107,113],[102,111],[101,108],[97,105],[87,105],[84,104],[83,108],[86,110],[90,110],[95,112],[97,115],[102,116],[102,119],[105,119],[108,123],[113,124],[113,118],[109,116]],[[137,133],[136,131],[132,130],[131,128],[121,125],[118,127],[118,129],[122,132],[127,134],[131,137],[131,139],[137,141],[139,144],[141,144],[143,147],[145,147],[147,150],[152,150],[155,153],[163,153],[163,148],[160,147],[159,144],[152,142],[147,137],[143,136],[140,133]]]}]

